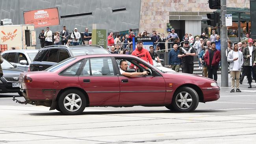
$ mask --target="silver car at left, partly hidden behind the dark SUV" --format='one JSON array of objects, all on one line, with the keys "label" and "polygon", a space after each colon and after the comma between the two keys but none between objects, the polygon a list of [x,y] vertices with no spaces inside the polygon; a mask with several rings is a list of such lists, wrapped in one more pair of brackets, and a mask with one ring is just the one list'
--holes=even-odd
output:
[{"label": "silver car at left, partly hidden behind the dark SUV", "polygon": [[38,50],[6,50],[1,55],[11,64],[17,65],[18,69],[27,72],[37,52]]}]

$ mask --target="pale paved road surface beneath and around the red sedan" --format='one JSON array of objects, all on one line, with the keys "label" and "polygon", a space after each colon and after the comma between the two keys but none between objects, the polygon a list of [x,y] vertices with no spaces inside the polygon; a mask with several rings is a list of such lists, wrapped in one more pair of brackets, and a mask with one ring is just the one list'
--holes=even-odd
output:
[{"label": "pale paved road surface beneath and around the red sedan", "polygon": [[65,116],[48,107],[14,103],[13,94],[4,94],[0,144],[254,144],[256,88],[247,86],[234,93],[222,87],[218,101],[199,103],[192,113],[165,107],[87,107],[81,115]]}]

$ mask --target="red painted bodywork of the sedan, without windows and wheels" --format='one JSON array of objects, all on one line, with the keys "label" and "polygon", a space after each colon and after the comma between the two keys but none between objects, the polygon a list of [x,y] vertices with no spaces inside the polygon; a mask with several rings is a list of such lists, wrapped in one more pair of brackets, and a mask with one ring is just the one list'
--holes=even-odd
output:
[{"label": "red painted bodywork of the sedan, without windows and wheels", "polygon": [[[184,73],[162,73],[153,67],[161,76],[61,76],[59,72],[68,66],[84,58],[89,57],[128,57],[139,59],[130,55],[83,55],[54,72],[24,72],[20,74],[20,79],[24,76],[32,78],[31,83],[22,84],[22,89],[26,91],[26,100],[54,101],[59,92],[67,88],[83,89],[88,95],[89,106],[134,106],[134,105],[167,105],[170,104],[175,90],[183,85],[193,85],[198,87],[198,95],[202,93],[201,102],[209,102],[219,99],[219,87],[212,87],[215,81],[201,76]],[[89,82],[84,82],[89,79]],[[122,82],[128,80],[127,83]],[[88,105],[87,105],[88,106]]]}]

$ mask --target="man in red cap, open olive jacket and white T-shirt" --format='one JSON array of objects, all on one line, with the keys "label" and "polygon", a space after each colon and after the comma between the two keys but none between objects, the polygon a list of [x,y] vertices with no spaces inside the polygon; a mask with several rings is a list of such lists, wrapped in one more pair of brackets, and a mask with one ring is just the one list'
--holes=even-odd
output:
[{"label": "man in red cap, open olive jacket and white T-shirt", "polygon": [[[248,39],[248,46],[243,49],[243,72],[248,78],[249,87],[252,88],[252,65],[255,66],[255,47],[252,46],[252,39]],[[255,62],[255,63],[254,63]],[[243,83],[243,78],[240,79],[240,84]]]}]

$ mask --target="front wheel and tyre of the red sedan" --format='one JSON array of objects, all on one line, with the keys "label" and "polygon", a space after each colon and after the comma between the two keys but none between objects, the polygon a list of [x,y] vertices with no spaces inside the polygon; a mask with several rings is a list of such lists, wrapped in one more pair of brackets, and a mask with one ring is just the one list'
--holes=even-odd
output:
[{"label": "front wheel and tyre of the red sedan", "polygon": [[198,106],[197,92],[191,87],[181,87],[173,96],[172,107],[178,112],[191,112]]}]

